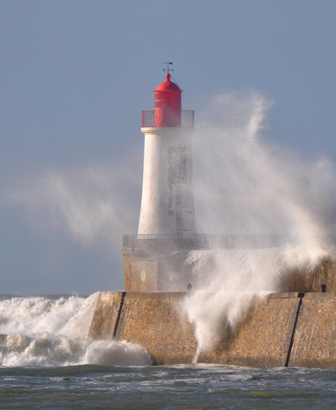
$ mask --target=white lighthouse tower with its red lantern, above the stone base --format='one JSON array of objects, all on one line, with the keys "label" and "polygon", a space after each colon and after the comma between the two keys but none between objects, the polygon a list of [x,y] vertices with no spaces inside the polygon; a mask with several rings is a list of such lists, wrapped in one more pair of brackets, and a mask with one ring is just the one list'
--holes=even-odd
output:
[{"label": "white lighthouse tower with its red lantern, above the stone base", "polygon": [[182,90],[166,80],[154,91],[155,110],[142,112],[144,160],[138,235],[195,234],[194,112],[181,110]]}]

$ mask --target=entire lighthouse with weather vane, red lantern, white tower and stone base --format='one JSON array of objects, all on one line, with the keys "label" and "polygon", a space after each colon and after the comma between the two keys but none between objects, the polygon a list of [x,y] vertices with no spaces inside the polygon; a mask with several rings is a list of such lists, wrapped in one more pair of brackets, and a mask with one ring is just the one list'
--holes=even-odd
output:
[{"label": "entire lighthouse with weather vane, red lantern, white tower and stone base", "polygon": [[126,291],[181,291],[196,234],[192,135],[194,111],[181,109],[168,61],[154,110],[142,111],[142,196],[138,233],[123,236]]}]

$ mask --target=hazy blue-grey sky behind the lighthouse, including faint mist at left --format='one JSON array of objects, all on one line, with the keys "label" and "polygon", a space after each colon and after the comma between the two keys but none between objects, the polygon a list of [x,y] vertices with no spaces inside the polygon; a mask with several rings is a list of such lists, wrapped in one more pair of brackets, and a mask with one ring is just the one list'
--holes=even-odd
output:
[{"label": "hazy blue-grey sky behind the lighthouse, including faint mist at left", "polygon": [[209,96],[256,90],[270,141],[336,164],[335,17],[326,0],[1,0],[0,293],[123,289],[167,59],[196,127]]}]

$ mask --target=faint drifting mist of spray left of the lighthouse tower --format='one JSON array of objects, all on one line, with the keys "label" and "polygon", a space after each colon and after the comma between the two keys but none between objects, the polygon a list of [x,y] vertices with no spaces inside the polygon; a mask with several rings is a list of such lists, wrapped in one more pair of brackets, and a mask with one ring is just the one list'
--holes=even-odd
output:
[{"label": "faint drifting mist of spray left of the lighthouse tower", "polygon": [[61,231],[110,255],[111,248],[119,249],[120,235],[137,224],[134,193],[141,183],[136,166],[141,167],[139,155],[130,153],[113,164],[41,172],[2,192],[0,206],[16,204],[34,229]]}]

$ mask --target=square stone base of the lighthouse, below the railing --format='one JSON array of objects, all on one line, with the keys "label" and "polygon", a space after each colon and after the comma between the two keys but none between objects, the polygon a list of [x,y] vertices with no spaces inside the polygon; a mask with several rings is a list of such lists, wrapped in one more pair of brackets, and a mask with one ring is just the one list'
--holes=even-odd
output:
[{"label": "square stone base of the lighthouse, below the railing", "polygon": [[185,263],[188,252],[157,254],[139,250],[121,251],[124,257],[125,291],[186,291],[193,279],[192,267]]}]

